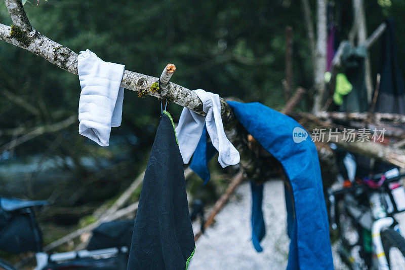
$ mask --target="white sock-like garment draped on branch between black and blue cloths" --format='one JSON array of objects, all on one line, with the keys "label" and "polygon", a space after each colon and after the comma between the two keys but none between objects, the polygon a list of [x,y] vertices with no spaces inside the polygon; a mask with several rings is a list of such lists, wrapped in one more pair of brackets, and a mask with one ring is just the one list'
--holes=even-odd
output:
[{"label": "white sock-like garment draped on branch between black and blue cloths", "polygon": [[201,139],[204,127],[207,128],[212,144],[218,150],[218,162],[222,168],[239,163],[239,152],[225,135],[221,118],[221,102],[218,94],[206,92],[202,89],[194,90],[203,102],[203,110],[206,117],[183,108],[176,133],[179,139],[180,152],[184,164],[190,161],[191,156]]}]

